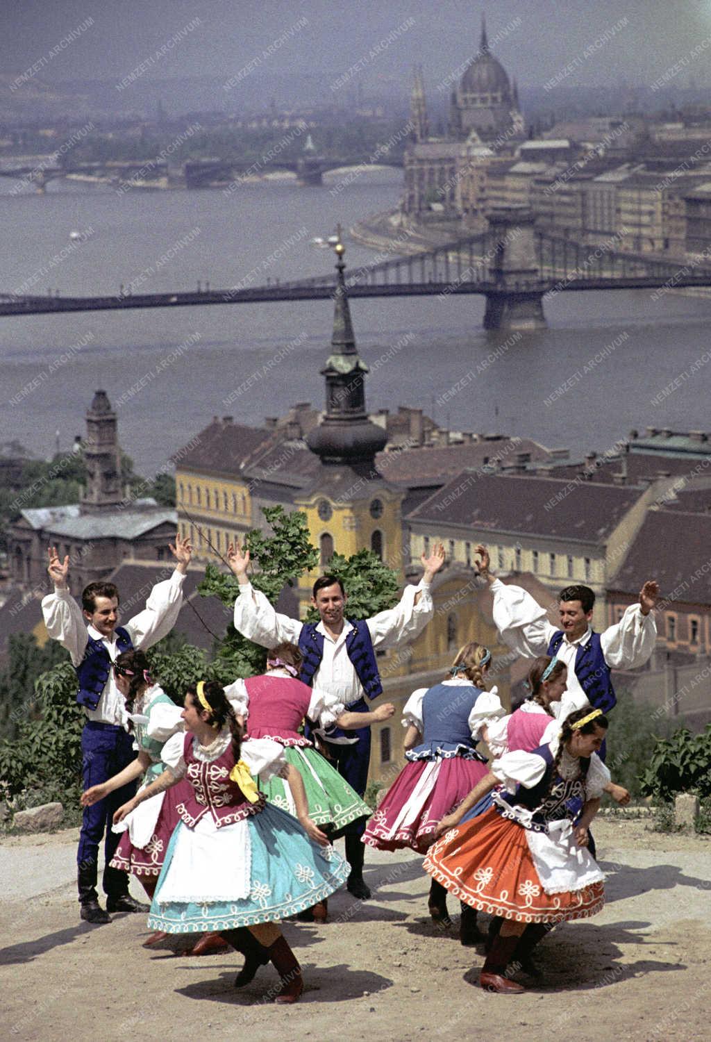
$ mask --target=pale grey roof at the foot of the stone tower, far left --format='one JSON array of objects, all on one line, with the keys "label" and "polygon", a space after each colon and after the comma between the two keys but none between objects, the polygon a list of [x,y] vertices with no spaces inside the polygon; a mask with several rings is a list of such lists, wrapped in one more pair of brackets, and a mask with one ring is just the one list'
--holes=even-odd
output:
[{"label": "pale grey roof at the foot of the stone tower, far left", "polygon": [[48,531],[71,539],[136,539],[161,524],[176,525],[174,507],[158,506],[155,499],[134,499],[130,508],[82,514],[79,503],[69,506],[40,506],[21,511],[35,531]]}]

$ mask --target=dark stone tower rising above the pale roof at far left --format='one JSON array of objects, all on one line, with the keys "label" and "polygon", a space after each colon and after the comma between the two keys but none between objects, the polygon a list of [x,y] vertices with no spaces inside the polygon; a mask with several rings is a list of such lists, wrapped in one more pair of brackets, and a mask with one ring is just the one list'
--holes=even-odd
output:
[{"label": "dark stone tower rising above the pale roof at far left", "polygon": [[115,510],[123,499],[121,451],[117,415],[105,391],[96,392],[86,412],[83,450],[86,488],[80,504],[82,514]]}]

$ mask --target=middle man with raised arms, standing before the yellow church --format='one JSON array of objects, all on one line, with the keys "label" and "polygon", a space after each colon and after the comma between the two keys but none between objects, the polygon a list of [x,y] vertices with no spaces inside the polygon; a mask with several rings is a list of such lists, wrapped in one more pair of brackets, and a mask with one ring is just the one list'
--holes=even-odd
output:
[{"label": "middle man with raised arms, standing before the yellow church", "polygon": [[[400,603],[372,619],[351,621],[344,610],[348,601],[340,581],[332,575],[322,575],[313,584],[311,604],[321,622],[304,623],[275,612],[266,597],[255,590],[247,577],[249,550],[238,546],[227,551],[229,566],[239,582],[239,596],[234,602],[234,628],[263,647],[276,647],[281,641],[298,643],[304,655],[300,679],[318,685],[338,696],[350,713],[367,713],[369,698],[382,693],[382,684],[375,656],[376,647],[392,647],[403,640],[412,640],[432,618],[433,604],[430,582],[445,563],[445,548],[438,544],[429,557],[422,555],[425,574],[418,585],[408,585]],[[371,728],[341,730],[331,727],[321,734],[338,773],[355,789],[365,794],[371,760]],[[346,858],[351,866],[348,889],[361,900],[371,896],[363,879],[364,820],[354,821],[346,833]]]}]

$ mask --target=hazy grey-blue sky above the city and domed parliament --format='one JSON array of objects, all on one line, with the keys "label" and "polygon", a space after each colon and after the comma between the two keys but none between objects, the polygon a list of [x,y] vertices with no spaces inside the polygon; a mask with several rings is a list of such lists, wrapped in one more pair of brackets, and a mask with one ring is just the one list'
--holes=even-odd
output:
[{"label": "hazy grey-blue sky above the city and domed parliament", "polygon": [[[228,79],[258,58],[255,71],[266,83],[271,69],[319,70],[336,76],[362,61],[360,75],[367,88],[392,77],[405,76],[409,81],[412,64],[421,61],[432,90],[477,51],[482,8],[490,39],[520,20],[492,50],[528,89],[541,88],[569,61],[575,68],[565,76],[568,86],[610,84],[620,77],[652,82],[699,45],[702,50],[685,65],[683,79],[691,74],[703,83],[709,80],[711,61],[711,49],[707,49],[711,0],[489,0],[487,4],[471,0],[0,0],[0,68],[5,74],[22,73],[86,19],[94,20],[78,39],[44,64],[37,74],[50,83],[83,77],[121,80],[162,47],[162,56],[151,64],[146,77],[210,74]],[[620,27],[624,19],[627,24]],[[189,25],[192,29],[186,28]],[[595,46],[615,25],[616,34]],[[183,39],[169,44],[181,30]],[[371,56],[371,50],[388,33],[392,34],[389,43]],[[264,54],[271,45],[272,52]],[[592,51],[585,56],[591,45]]]}]

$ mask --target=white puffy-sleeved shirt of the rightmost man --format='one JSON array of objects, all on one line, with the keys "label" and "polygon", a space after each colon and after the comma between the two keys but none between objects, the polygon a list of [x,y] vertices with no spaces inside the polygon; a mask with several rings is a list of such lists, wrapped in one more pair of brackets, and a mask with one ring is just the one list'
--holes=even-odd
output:
[{"label": "white puffy-sleeved shirt of the rightmost man", "polygon": [[[493,594],[493,621],[505,644],[518,654],[537,659],[548,654],[549,644],[559,626],[548,621],[545,610],[528,591],[517,586],[507,586],[501,579],[491,584]],[[587,696],[575,673],[578,648],[590,640],[592,629],[577,641],[564,636],[557,659],[567,666],[567,712],[588,704]],[[608,626],[600,635],[605,662],[611,669],[636,669],[642,666],[654,650],[657,626],[652,612],[642,615],[639,604],[630,604],[619,622]]]}]

